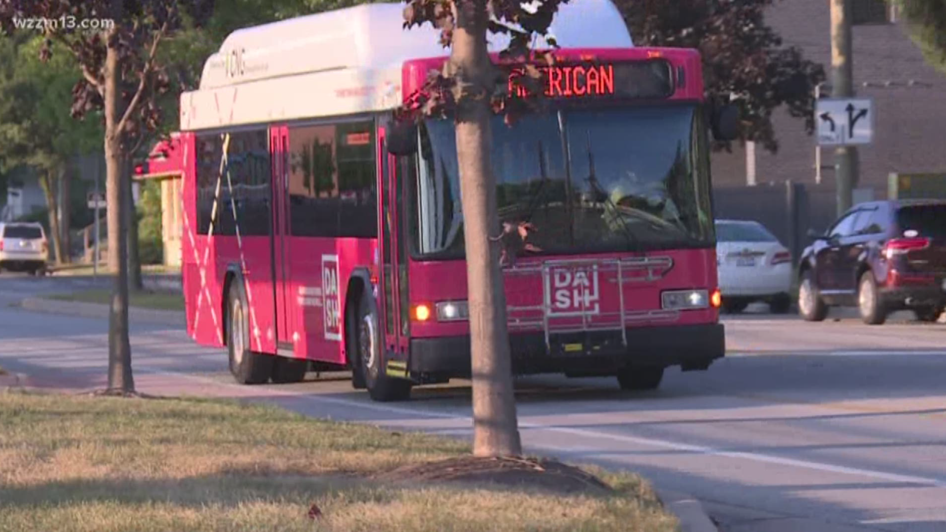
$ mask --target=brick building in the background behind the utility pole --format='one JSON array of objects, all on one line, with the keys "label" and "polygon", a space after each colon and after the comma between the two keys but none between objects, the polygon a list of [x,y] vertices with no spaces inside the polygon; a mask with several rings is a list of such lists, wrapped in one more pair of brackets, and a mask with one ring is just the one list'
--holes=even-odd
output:
[{"label": "brick building in the background behind the utility pole", "polygon": [[[831,78],[831,16],[828,0],[777,2],[766,21],[786,45],[801,48],[807,59],[821,63]],[[890,172],[946,171],[946,74],[923,61],[897,9],[884,0],[853,0],[854,90],[859,98],[873,98],[873,144],[860,148],[860,183],[879,196]],[[793,180],[812,184],[815,179],[815,136],[804,123],[779,110],[774,114],[780,142],[778,153],[757,146],[736,147],[731,154],[714,155],[716,186],[758,185]],[[748,157],[746,154],[748,153]],[[834,183],[834,155],[822,151],[821,181]]]}]

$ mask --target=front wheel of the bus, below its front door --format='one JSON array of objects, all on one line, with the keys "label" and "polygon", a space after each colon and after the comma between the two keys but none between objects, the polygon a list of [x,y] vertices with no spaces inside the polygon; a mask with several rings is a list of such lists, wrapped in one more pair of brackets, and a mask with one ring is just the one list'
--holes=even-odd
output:
[{"label": "front wheel of the bus, below its front door", "polygon": [[384,343],[377,319],[375,298],[369,294],[359,299],[357,323],[357,371],[361,372],[371,399],[387,402],[411,398],[412,382],[389,377],[385,372]]}]

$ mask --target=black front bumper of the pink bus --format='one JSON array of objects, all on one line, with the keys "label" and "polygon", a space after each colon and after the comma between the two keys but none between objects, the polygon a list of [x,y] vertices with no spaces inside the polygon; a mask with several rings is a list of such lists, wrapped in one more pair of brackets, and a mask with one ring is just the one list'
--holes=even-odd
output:
[{"label": "black front bumper of the pink bus", "polygon": [[[517,375],[565,373],[575,377],[613,375],[628,365],[679,365],[684,371],[707,369],[726,353],[722,324],[626,328],[620,331],[509,335]],[[468,378],[469,336],[412,338],[409,371],[421,380]]]}]

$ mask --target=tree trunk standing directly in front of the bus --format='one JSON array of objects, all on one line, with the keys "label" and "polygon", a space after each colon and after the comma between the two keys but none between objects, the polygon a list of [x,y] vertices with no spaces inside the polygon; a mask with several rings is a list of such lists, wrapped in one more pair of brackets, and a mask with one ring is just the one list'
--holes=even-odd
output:
[{"label": "tree trunk standing directly in front of the bus", "polygon": [[[450,61],[462,81],[485,87],[491,82],[492,70],[486,49],[486,2],[471,0],[454,6],[458,9],[458,24]],[[473,454],[517,456],[522,446],[513,393],[506,295],[499,243],[490,239],[499,234],[499,215],[490,161],[488,101],[462,100],[456,124],[472,352]]]}]

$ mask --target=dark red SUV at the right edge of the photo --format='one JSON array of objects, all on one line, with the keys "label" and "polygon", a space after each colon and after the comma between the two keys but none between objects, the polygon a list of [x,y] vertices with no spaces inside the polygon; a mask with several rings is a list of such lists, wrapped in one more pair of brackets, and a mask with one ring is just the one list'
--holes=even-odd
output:
[{"label": "dark red SUV at the right edge of the photo", "polygon": [[856,306],[871,325],[906,309],[934,322],[946,307],[946,201],[859,204],[811,236],[798,268],[804,319]]}]

